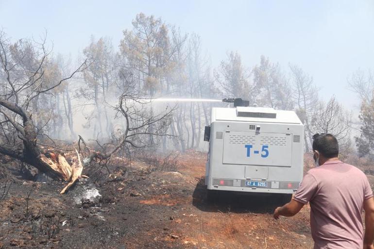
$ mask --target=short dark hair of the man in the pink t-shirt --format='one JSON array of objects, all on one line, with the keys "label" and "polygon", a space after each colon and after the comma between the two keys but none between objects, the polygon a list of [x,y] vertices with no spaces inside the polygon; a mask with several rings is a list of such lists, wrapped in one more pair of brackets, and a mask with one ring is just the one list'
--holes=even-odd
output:
[{"label": "short dark hair of the man in the pink t-shirt", "polygon": [[313,150],[318,150],[324,157],[333,158],[339,154],[338,140],[328,133],[313,135]]}]

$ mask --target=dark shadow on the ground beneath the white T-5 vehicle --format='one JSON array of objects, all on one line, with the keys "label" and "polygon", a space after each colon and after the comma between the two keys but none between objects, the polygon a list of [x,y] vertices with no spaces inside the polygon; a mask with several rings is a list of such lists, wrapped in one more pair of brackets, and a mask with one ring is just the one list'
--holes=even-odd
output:
[{"label": "dark shadow on the ground beneath the white T-5 vehicle", "polygon": [[192,205],[204,212],[272,214],[291,199],[290,195],[234,191],[216,191],[213,198],[207,198],[207,191],[201,178],[192,194]]}]

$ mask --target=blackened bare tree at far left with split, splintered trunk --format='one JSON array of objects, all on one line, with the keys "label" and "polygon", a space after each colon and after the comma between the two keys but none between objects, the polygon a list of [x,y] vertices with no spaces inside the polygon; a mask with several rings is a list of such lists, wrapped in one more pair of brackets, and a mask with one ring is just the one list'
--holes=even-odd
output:
[{"label": "blackened bare tree at far left with split, splintered trunk", "polygon": [[[50,53],[41,43],[19,40],[11,43],[0,32],[0,153],[36,167],[52,178],[68,180],[71,166],[61,154],[42,151],[40,140],[48,135],[43,128],[50,118],[39,119],[35,107],[42,96],[53,95],[53,89],[85,68],[85,62],[69,76],[51,82]],[[79,162],[78,162],[79,163]]]}]

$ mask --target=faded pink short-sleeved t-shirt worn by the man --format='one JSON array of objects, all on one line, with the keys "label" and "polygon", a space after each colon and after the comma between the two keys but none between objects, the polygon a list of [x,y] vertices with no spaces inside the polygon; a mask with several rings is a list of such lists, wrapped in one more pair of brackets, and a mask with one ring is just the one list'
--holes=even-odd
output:
[{"label": "faded pink short-sleeved t-shirt worn by the man", "polygon": [[361,170],[330,161],[308,171],[293,199],[310,203],[314,249],[362,249],[361,213],[364,200],[371,197]]}]

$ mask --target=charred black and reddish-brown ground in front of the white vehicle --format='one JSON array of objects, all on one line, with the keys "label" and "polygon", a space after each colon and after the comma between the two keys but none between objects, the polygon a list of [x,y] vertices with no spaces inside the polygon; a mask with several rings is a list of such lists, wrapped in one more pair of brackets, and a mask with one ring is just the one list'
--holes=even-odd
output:
[{"label": "charred black and reddish-brown ground in front of the white vehicle", "polygon": [[[172,172],[136,161],[132,173],[113,169],[99,183],[81,179],[65,195],[62,182],[17,180],[0,200],[0,249],[313,247],[308,206],[275,221],[272,212],[281,203],[274,196],[224,193],[208,202],[205,160],[190,151]],[[101,197],[84,199],[95,189]]]}]

